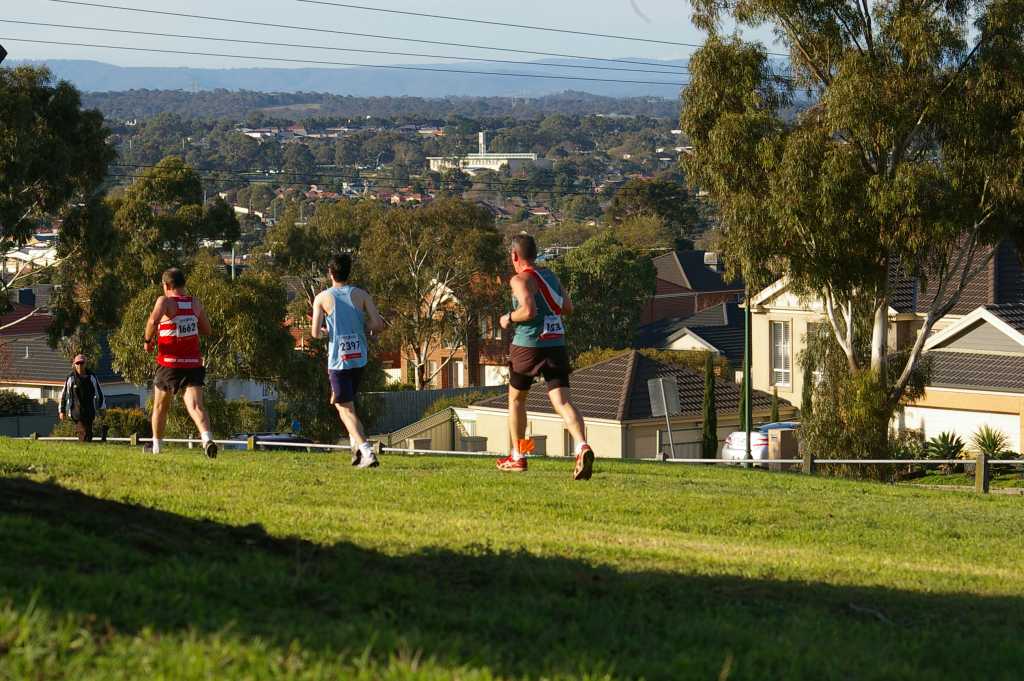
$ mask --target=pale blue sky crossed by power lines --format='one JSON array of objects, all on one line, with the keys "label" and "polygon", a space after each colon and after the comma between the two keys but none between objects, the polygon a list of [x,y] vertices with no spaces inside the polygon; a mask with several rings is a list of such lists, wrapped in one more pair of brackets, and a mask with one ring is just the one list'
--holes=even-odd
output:
[{"label": "pale blue sky crossed by power lines", "polygon": [[[640,42],[591,38],[545,33],[493,26],[479,26],[357,9],[343,9],[298,0],[96,0],[102,4],[160,9],[245,18],[268,24],[322,27],[341,31],[421,38],[477,45],[493,45],[581,55],[611,57],[682,58],[692,48]],[[352,0],[380,8],[432,12],[535,26],[550,26],[578,31],[641,36],[674,42],[699,43],[703,35],[689,20],[690,8],[684,0],[517,0],[512,2],[480,2],[479,0]],[[360,49],[383,49],[407,52],[430,52],[455,56],[498,56],[531,58],[525,55],[402,43],[372,38],[355,38],[315,34],[279,28],[243,27],[170,16],[155,16],[135,12],[58,4],[49,0],[7,0],[0,18],[22,19],[88,26],[204,35],[245,40],[267,40],[301,45],[329,45]],[[17,26],[0,23],[0,36],[61,42],[102,43],[173,50],[206,51],[264,56],[289,56],[305,59],[350,61],[360,63],[438,62],[434,58],[385,56],[316,50],[311,48],[281,48],[257,45],[212,43],[199,40],[115,35],[90,31]],[[219,56],[185,56],[125,52],[91,47],[36,45],[0,39],[11,53],[10,58],[76,58],[94,59],[121,66],[161,67],[301,67],[299,63],[253,61]]]}]

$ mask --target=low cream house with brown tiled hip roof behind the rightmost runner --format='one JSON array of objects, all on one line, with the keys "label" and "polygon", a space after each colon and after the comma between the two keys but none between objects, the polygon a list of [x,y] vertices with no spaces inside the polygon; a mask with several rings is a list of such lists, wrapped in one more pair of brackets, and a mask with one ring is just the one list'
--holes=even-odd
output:
[{"label": "low cream house with brown tiled hip roof behind the rightmost runner", "polygon": [[[703,373],[629,350],[572,374],[572,401],[587,421],[587,437],[598,457],[654,459],[659,453],[669,453],[665,418],[651,413],[647,381],[653,378],[674,378],[678,385],[680,414],[670,419],[676,457],[700,456]],[[739,422],[739,386],[719,378],[715,390],[721,441]],[[526,410],[526,433],[536,440],[538,454],[564,456],[573,452],[575,443],[552,409],[543,383],[529,391]],[[767,420],[770,410],[771,395],[755,392],[755,421]],[[468,436],[485,438],[488,451],[508,451],[508,397],[484,399],[460,412],[460,427]],[[795,414],[792,406],[780,402],[781,418]]]}]

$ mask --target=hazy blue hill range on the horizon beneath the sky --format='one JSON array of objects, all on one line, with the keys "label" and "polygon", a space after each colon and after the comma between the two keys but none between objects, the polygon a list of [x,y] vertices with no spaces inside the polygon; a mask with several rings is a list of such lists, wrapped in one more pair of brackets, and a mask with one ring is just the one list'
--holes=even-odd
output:
[{"label": "hazy blue hill range on the horizon beneath the sky", "polygon": [[[653,59],[641,59],[655,61]],[[494,73],[528,73],[553,76],[581,76],[633,81],[682,82],[685,61],[664,61],[666,73],[626,73],[579,69],[538,68],[537,63],[580,63],[565,59],[546,59],[528,66],[485,63],[478,61],[411,65],[424,69],[454,69]],[[23,63],[40,63],[24,61]],[[47,59],[58,77],[87,92],[121,90],[252,90],[255,92],[325,92],[353,96],[523,96],[536,97],[563,90],[613,97],[651,96],[676,99],[679,88],[635,83],[602,83],[586,80],[551,80],[466,73],[401,71],[392,69],[187,69],[154,67],[118,67],[100,61]],[[594,63],[594,62],[591,62]],[[658,61],[658,63],[663,63]],[[625,69],[656,70],[652,67],[609,65]],[[675,73],[670,70],[675,67]]]}]

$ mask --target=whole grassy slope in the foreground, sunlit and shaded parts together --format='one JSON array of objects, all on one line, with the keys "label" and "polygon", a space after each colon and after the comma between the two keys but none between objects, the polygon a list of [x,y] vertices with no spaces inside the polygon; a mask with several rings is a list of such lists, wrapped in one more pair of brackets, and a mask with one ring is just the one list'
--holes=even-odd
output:
[{"label": "whole grassy slope in the foreground, sunlit and shaded parts together", "polygon": [[1019,679],[1020,497],[0,439],[0,679]]}]

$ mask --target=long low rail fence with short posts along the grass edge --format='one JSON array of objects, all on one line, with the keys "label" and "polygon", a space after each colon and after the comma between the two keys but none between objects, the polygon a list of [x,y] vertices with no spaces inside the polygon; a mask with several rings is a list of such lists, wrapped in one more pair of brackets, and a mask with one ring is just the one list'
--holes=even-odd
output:
[{"label": "long low rail fence with short posts along the grass edge", "polygon": [[[15,439],[34,439],[42,441],[65,441],[65,442],[75,442],[78,441],[77,437],[39,437],[35,434],[29,435],[28,437],[15,438]],[[99,441],[99,440],[96,440]],[[152,442],[152,437],[138,437],[132,435],[131,437],[108,437],[105,442],[126,442],[131,445],[137,445],[142,442]],[[162,440],[163,442],[173,443],[173,444],[199,444],[200,440],[193,438],[181,438],[181,437],[166,437]],[[213,440],[217,444],[233,444],[238,445],[240,449],[245,449],[248,451],[255,451],[261,446],[265,448],[292,448],[296,450],[323,450],[323,451],[345,451],[350,452],[351,446],[348,444],[323,444],[319,442],[261,442],[258,437],[250,437],[244,440],[232,440],[232,439],[215,439]],[[377,443],[377,450],[379,453],[386,454],[401,454],[410,456],[440,456],[440,457],[467,457],[467,458],[492,458],[500,457],[501,453],[498,452],[462,452],[458,450],[426,450],[426,449],[412,449],[412,448],[396,448],[396,446],[381,446]],[[557,460],[569,460],[572,457],[557,457],[557,456],[545,456],[545,459],[557,459]],[[993,466],[1022,466],[1024,467],[1024,458],[1021,459],[992,459],[986,455],[978,455],[975,459],[815,459],[811,455],[805,455],[801,459],[659,459],[657,457],[652,457],[650,459],[605,459],[602,463],[606,462],[658,462],[667,464],[680,464],[680,465],[699,465],[699,466],[750,466],[757,465],[761,467],[777,468],[780,466],[800,466],[800,471],[806,474],[814,474],[817,472],[818,466],[863,466],[863,465],[883,465],[883,466],[974,466],[975,467],[975,490],[982,494],[987,494],[989,492],[989,483],[991,480],[991,470]],[[1024,474],[1024,470],[1022,470]]]}]

